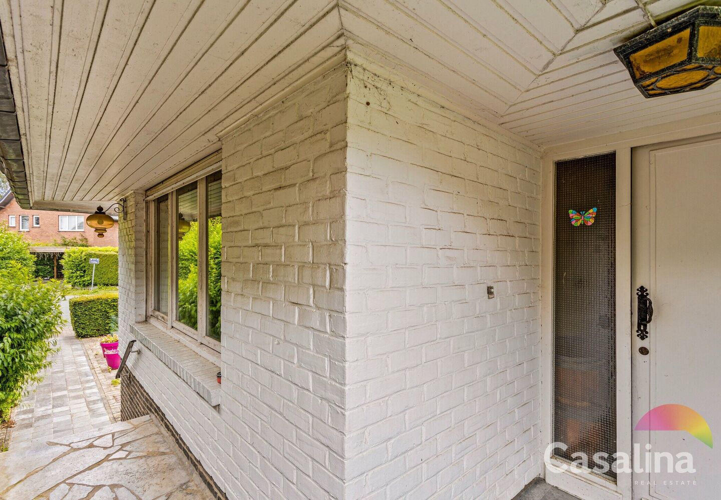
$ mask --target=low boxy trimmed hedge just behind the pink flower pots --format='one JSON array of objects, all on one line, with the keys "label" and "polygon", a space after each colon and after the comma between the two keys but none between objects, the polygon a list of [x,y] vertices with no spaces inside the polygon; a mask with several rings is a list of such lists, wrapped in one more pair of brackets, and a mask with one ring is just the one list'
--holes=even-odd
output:
[{"label": "low boxy trimmed hedge just behind the pink flower pots", "polygon": [[75,336],[101,336],[118,330],[118,292],[70,299],[70,322]]}]

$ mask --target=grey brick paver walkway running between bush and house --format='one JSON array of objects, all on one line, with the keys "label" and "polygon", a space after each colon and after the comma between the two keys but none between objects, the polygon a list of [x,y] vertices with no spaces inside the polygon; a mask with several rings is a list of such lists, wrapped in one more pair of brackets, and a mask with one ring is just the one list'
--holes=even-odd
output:
[{"label": "grey brick paver walkway running between bush and house", "polygon": [[[67,313],[67,302],[63,302]],[[58,337],[60,352],[45,378],[14,412],[10,450],[41,438],[56,438],[111,423],[90,365],[69,323]]]}]

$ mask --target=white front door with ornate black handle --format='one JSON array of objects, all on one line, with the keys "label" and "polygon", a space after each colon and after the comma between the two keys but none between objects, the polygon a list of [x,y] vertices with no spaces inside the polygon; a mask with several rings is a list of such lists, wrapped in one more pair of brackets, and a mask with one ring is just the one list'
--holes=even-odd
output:
[{"label": "white front door with ornate black handle", "polygon": [[[637,467],[644,469],[633,473],[634,500],[718,500],[721,139],[634,150],[632,172],[632,421],[636,426],[648,411],[678,405],[655,410],[650,426],[643,427],[689,427],[694,414],[687,407],[707,421],[718,439],[712,448],[684,430],[634,431]],[[653,300],[646,339],[636,335],[640,286]],[[658,455],[663,452],[674,456],[672,473],[668,455]],[[683,452],[693,457],[695,473],[678,472]],[[681,470],[687,465],[682,463]]]}]

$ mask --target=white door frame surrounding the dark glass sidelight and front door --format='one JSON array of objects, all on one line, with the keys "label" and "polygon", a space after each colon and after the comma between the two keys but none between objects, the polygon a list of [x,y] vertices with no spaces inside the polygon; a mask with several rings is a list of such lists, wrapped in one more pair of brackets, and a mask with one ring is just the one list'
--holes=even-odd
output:
[{"label": "white door frame surrounding the dark glass sidelight and front door", "polygon": [[611,483],[590,473],[556,473],[544,462],[551,444],[553,405],[553,273],[555,162],[616,152],[616,440],[632,455],[631,163],[632,149],[660,148],[675,141],[697,142],[721,136],[721,116],[654,125],[546,148],[541,159],[541,476],[549,484],[588,500],[632,500],[632,475]]}]

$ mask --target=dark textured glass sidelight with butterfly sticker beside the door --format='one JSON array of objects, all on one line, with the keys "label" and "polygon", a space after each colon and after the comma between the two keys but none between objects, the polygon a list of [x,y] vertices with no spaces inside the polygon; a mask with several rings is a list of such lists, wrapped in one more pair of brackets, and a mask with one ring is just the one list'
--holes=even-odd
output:
[{"label": "dark textured glass sidelight with butterfly sticker beside the door", "polygon": [[[568,210],[593,207],[591,226],[572,226]],[[558,161],[555,210],[553,441],[593,469],[594,454],[616,452],[615,153]]]}]

